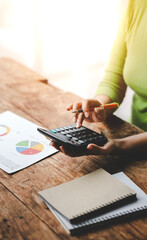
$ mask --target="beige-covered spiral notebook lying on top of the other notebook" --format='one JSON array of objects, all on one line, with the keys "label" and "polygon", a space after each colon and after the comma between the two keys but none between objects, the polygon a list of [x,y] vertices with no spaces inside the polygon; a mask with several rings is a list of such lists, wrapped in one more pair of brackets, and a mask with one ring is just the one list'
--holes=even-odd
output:
[{"label": "beige-covered spiral notebook lying on top of the other notebook", "polygon": [[136,193],[104,169],[39,192],[45,202],[74,222]]}]

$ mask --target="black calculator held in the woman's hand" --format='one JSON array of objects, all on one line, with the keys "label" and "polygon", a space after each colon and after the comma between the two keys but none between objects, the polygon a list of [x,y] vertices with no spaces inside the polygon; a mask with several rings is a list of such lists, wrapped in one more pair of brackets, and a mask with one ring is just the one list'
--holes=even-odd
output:
[{"label": "black calculator held in the woman's hand", "polygon": [[71,149],[77,153],[84,152],[89,143],[103,146],[108,141],[103,133],[97,133],[84,126],[76,128],[75,124],[51,130],[43,128],[37,128],[37,130],[59,145],[63,145],[68,150]]}]

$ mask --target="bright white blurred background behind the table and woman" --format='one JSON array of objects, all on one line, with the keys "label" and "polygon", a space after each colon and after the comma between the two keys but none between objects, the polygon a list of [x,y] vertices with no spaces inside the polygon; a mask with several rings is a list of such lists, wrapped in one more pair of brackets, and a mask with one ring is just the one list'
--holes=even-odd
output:
[{"label": "bright white blurred background behind the table and woman", "polygon": [[[0,0],[0,57],[92,98],[128,0]],[[116,115],[129,121],[132,91]]]}]

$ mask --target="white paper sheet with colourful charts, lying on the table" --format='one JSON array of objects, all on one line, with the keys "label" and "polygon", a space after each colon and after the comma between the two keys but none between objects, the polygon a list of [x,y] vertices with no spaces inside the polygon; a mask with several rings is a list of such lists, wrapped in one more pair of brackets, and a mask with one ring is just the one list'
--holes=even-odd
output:
[{"label": "white paper sheet with colourful charts, lying on the table", "polygon": [[12,112],[0,114],[1,169],[14,173],[57,152],[37,127]]}]

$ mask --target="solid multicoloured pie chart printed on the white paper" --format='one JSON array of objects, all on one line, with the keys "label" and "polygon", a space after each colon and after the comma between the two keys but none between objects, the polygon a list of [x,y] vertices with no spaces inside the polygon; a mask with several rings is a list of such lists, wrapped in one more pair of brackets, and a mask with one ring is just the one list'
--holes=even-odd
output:
[{"label": "solid multicoloured pie chart printed on the white paper", "polygon": [[24,155],[34,155],[40,153],[43,148],[43,144],[29,140],[24,140],[16,144],[16,151]]}]

